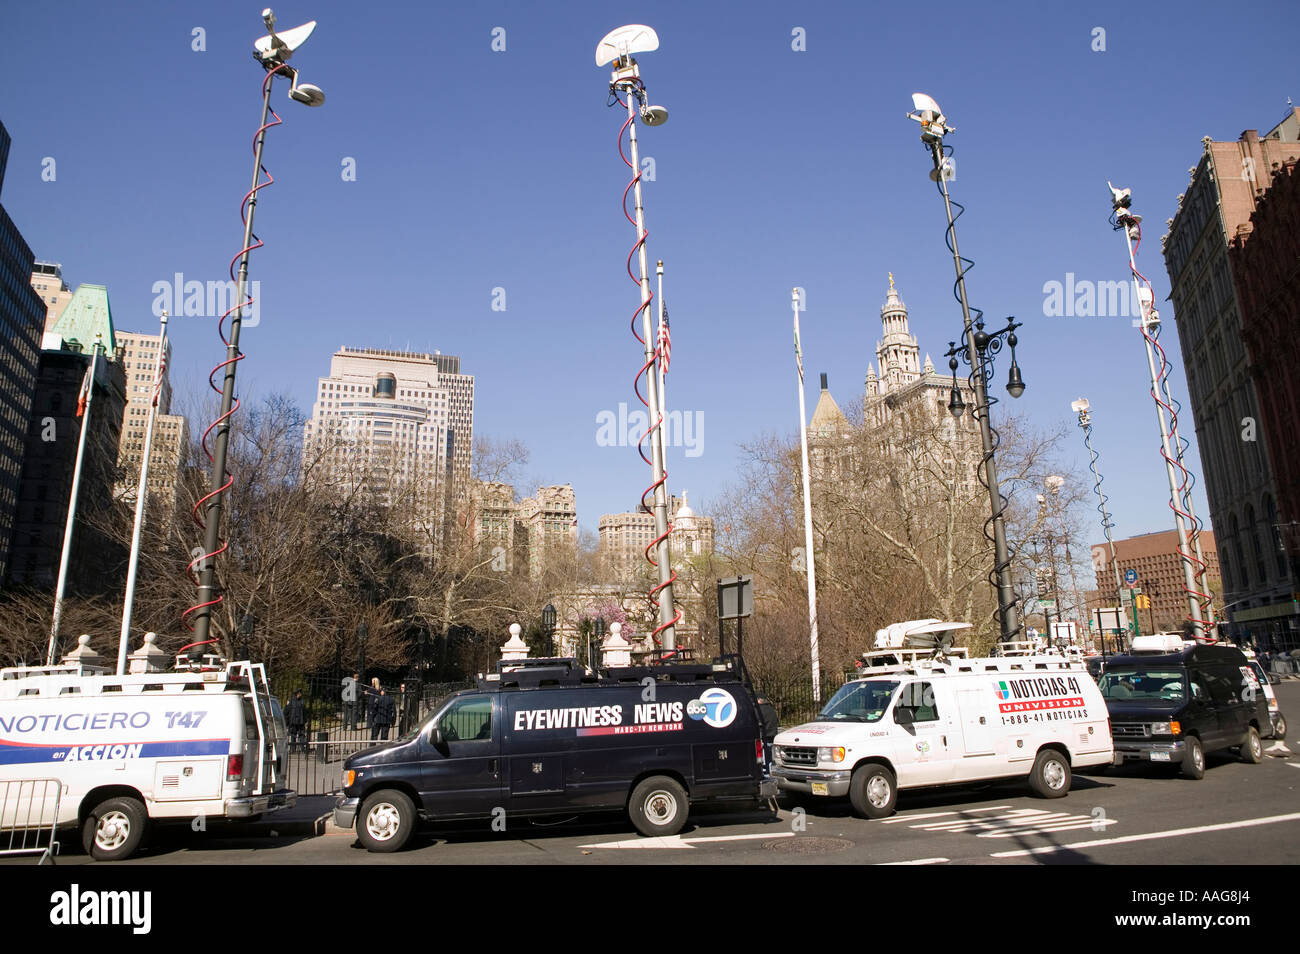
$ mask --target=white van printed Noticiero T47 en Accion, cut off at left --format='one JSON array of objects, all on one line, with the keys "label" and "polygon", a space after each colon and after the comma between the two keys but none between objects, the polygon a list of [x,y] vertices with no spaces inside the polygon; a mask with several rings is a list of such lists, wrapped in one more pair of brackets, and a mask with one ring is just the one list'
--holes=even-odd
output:
[{"label": "white van printed Noticiero T47 en Accion, cut off at left", "polygon": [[[265,669],[214,665],[126,676],[0,669],[0,782],[58,780],[57,825],[78,827],[98,860],[129,857],[153,819],[251,819],[292,806]],[[53,805],[6,799],[0,829],[42,808],[49,818]]]}]

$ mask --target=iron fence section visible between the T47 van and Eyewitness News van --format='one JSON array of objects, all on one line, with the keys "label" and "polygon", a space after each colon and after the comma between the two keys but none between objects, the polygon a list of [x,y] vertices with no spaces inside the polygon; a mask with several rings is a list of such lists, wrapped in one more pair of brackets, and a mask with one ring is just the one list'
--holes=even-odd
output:
[{"label": "iron fence section visible between the T47 van and Eyewitness News van", "polygon": [[[344,673],[313,673],[272,680],[272,693],[286,712],[289,788],[299,795],[325,795],[338,792],[343,781],[343,760],[363,749],[400,738],[436,712],[448,695],[473,688],[473,682],[425,682],[413,680],[381,681],[393,698],[394,723],[380,725],[374,701],[378,691],[370,684],[358,684],[356,702],[343,702]],[[295,690],[303,691],[302,727],[287,719]]]}]

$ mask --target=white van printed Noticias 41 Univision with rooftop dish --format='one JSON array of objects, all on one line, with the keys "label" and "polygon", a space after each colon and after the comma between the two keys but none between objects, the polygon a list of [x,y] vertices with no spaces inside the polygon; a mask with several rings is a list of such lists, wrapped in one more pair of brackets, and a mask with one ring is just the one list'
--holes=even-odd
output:
[{"label": "white van printed Noticias 41 Univision with rooftop dish", "polygon": [[1028,777],[1060,798],[1071,768],[1112,763],[1106,703],[1079,663],[892,652],[906,662],[868,665],[816,721],[776,736],[781,792],[848,795],[858,815],[885,818],[900,789]]}]

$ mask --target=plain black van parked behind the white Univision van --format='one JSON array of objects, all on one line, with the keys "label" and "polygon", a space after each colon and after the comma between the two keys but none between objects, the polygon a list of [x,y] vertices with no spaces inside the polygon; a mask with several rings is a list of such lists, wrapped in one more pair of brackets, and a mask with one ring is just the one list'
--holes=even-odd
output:
[{"label": "plain black van parked behind the white Univision van", "polygon": [[1204,643],[1173,652],[1112,656],[1098,681],[1110,712],[1115,763],[1140,759],[1205,775],[1205,753],[1240,747],[1243,762],[1264,759],[1269,704],[1240,650]]}]

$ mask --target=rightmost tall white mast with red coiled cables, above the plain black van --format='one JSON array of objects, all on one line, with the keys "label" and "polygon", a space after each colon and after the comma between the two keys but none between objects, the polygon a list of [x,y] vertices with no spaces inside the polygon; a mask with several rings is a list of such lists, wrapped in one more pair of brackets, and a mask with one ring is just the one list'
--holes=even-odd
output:
[{"label": "rightmost tall white mast with red coiled cables, above the plain black van", "polygon": [[1178,434],[1180,404],[1170,394],[1170,364],[1165,350],[1160,346],[1160,313],[1156,311],[1156,290],[1147,276],[1138,270],[1141,216],[1132,211],[1131,188],[1115,188],[1110,182],[1106,182],[1106,186],[1110,188],[1110,225],[1115,231],[1124,233],[1124,244],[1128,247],[1128,270],[1132,273],[1134,291],[1141,309],[1138,324],[1147,346],[1150,396],[1156,402],[1156,419],[1160,421],[1160,454],[1165,459],[1165,474],[1169,478],[1169,507],[1174,511],[1174,526],[1178,530],[1178,555],[1183,559],[1187,619],[1192,624],[1196,638],[1205,639],[1206,630],[1214,625],[1214,603],[1205,584],[1206,564],[1205,555],[1201,552],[1201,524],[1192,508],[1192,474],[1183,460],[1183,451],[1188,443]]}]

